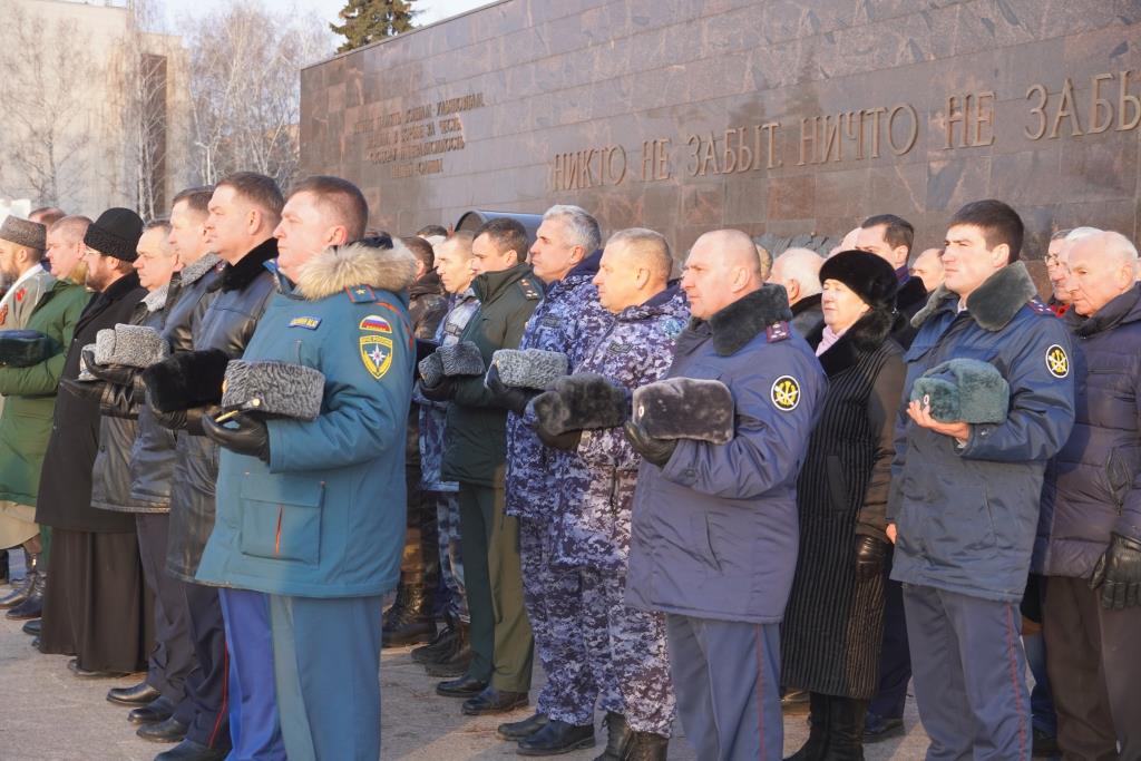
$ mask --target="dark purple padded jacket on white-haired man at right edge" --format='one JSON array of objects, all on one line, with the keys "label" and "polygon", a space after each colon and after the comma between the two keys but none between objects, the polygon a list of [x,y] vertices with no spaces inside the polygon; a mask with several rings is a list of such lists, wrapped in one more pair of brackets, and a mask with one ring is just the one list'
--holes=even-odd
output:
[{"label": "dark purple padded jacket on white-haired man at right edge", "polygon": [[1073,309],[1077,410],[1050,468],[1034,568],[1089,578],[1116,532],[1141,541],[1141,285],[1092,317]]}]

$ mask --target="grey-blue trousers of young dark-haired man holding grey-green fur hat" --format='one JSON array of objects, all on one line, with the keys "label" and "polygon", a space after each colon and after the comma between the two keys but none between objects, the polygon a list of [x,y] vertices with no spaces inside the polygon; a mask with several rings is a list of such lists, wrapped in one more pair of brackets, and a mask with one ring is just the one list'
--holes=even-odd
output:
[{"label": "grey-blue trousers of young dark-haired man holding grey-green fur hat", "polygon": [[1029,761],[1018,604],[904,584],[904,607],[928,761]]}]

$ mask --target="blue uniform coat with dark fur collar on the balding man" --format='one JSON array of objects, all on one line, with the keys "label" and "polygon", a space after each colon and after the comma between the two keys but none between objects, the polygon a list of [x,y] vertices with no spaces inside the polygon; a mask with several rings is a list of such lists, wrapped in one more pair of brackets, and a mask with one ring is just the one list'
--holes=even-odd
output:
[{"label": "blue uniform coat with dark fur collar on the balding man", "polygon": [[764,285],[678,337],[666,378],[728,386],[736,435],[682,439],[665,468],[641,464],[631,605],[748,623],[784,616],[800,542],[796,473],[826,383],[791,317],[784,289]]}]

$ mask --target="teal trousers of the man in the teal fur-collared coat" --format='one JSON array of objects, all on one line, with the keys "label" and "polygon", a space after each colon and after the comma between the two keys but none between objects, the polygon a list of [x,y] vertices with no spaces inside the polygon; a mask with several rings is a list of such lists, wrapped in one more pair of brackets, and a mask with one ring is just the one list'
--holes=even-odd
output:
[{"label": "teal trousers of the man in the teal fur-collared coat", "polygon": [[290,761],[380,758],[385,598],[269,596],[274,673]]}]

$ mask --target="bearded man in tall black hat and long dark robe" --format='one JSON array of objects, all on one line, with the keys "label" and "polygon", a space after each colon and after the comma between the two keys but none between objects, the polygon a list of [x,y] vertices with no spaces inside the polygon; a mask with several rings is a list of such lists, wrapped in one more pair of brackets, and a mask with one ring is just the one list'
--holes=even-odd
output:
[{"label": "bearded man in tall black hat and long dark robe", "polygon": [[[108,209],[83,235],[89,289],[96,296],[75,325],[60,380],[80,373],[83,347],[104,327],[130,318],[146,294],[131,266],[143,220],[128,209]],[[43,459],[37,523],[52,528],[41,649],[75,655],[80,678],[138,671],[151,647],[140,621],[144,592],[132,516],[91,507],[91,468],[99,442],[99,404],[63,394],[55,408]]]}]

